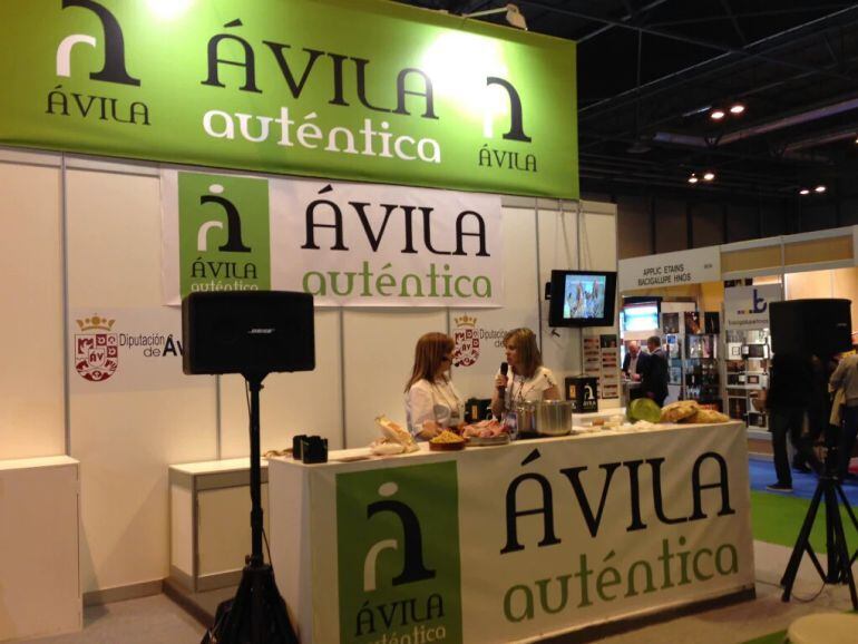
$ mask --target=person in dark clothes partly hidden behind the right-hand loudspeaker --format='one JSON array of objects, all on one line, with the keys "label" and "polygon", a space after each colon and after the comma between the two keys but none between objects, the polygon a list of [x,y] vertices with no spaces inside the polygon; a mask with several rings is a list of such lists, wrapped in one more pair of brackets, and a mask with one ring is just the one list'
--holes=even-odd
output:
[{"label": "person in dark clothes partly hidden behind the right-hand loudspeaker", "polygon": [[807,355],[776,353],[769,368],[769,390],[766,408],[769,412],[769,431],[778,481],[766,486],[776,492],[792,491],[792,472],[787,453],[787,437],[800,458],[819,471],[819,460],[810,442],[803,436],[805,417],[810,407],[813,388],[813,367]]}]

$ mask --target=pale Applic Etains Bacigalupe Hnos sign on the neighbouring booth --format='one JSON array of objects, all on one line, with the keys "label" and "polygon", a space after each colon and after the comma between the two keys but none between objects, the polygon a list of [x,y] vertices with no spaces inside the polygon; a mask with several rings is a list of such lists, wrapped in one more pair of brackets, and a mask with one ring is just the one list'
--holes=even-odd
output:
[{"label": "pale Applic Etains Bacigalupe Hnos sign on the neighbouring booth", "polygon": [[721,280],[719,246],[620,260],[620,292]]}]

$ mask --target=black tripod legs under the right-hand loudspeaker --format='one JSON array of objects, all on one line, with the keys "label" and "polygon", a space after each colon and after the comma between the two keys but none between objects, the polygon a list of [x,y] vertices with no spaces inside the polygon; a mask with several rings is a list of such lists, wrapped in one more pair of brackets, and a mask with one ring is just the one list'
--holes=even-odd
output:
[{"label": "black tripod legs under the right-hand loudspeaker", "polygon": [[[855,591],[855,577],[852,576],[852,563],[858,557],[858,553],[849,556],[849,548],[846,543],[846,534],[844,531],[844,520],[840,515],[840,507],[838,506],[838,497],[844,504],[846,511],[849,514],[849,518],[852,521],[852,526],[858,530],[858,519],[855,517],[849,500],[844,494],[844,488],[840,486],[840,481],[835,476],[836,458],[833,457],[835,449],[829,448],[829,452],[826,457],[826,467],[822,476],[819,477],[817,482],[817,489],[813,492],[813,499],[810,501],[808,514],[805,516],[805,523],[801,525],[796,547],[792,548],[792,555],[790,556],[787,569],[783,572],[780,585],[783,586],[783,595],[781,599],[789,602],[790,594],[792,593],[792,585],[796,583],[796,575],[801,564],[801,556],[805,552],[810,556],[810,560],[813,567],[819,573],[819,576],[827,584],[848,584],[849,594],[852,599],[852,608],[858,611],[858,595]],[[816,520],[817,513],[819,511],[819,504],[825,499],[826,510],[826,549],[828,552],[828,573],[822,569],[822,565],[819,563],[819,558],[813,552],[810,545],[810,530],[813,528],[813,521]]]}]

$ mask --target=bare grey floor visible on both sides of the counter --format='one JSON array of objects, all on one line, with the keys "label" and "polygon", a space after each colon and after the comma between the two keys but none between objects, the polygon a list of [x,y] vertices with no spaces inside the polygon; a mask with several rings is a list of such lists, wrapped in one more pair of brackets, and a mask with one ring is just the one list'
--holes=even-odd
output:
[{"label": "bare grey floor visible on both sides of the counter", "polygon": [[[786,630],[810,613],[848,611],[846,586],[825,586],[807,557],[793,599],[784,604],[778,586],[790,550],[754,543],[757,598],[601,640],[603,644],[731,644]],[[858,573],[858,566],[856,566]],[[820,592],[821,589],[821,592]],[[856,617],[858,619],[858,617]],[[28,644],[198,644],[204,628],[166,595],[87,608],[81,633],[30,640]],[[574,642],[569,637],[569,642]],[[858,635],[856,635],[858,642]]]}]

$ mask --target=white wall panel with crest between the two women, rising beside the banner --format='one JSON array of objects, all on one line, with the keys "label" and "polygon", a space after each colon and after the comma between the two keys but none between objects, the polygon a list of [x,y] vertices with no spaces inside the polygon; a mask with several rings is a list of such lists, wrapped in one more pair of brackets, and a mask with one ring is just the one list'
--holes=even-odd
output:
[{"label": "white wall panel with crest between the two women, rising beside the banner", "polygon": [[503,340],[510,329],[527,326],[539,333],[540,290],[536,274],[536,211],[504,208],[504,308],[450,311],[450,333],[470,330],[479,345],[467,347],[458,360],[471,362],[452,370],[454,382],[466,398],[491,398],[495,373],[506,360]]}]

